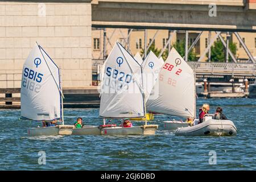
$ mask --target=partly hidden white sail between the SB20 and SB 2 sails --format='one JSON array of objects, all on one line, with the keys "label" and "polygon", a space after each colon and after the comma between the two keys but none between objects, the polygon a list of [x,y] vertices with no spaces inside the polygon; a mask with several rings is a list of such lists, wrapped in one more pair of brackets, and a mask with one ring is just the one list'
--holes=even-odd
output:
[{"label": "partly hidden white sail between the SB20 and SB 2 sails", "polygon": [[[164,64],[163,60],[158,59],[154,52],[150,51],[148,53],[146,59],[144,59],[141,67],[142,67],[142,74],[143,74],[143,90],[145,92],[146,101],[148,99],[155,99],[155,95],[158,93],[155,90],[152,92],[152,88],[158,79],[159,71]],[[157,89],[157,87],[156,87]],[[152,94],[150,94],[152,92]],[[151,95],[151,96],[150,96]]]}]

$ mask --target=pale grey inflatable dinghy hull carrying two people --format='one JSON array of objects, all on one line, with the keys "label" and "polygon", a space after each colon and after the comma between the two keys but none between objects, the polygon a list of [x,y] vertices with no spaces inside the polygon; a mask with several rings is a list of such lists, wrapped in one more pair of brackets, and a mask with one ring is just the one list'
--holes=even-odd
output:
[{"label": "pale grey inflatable dinghy hull carrying two people", "polygon": [[236,136],[237,129],[230,120],[209,119],[190,127],[181,127],[175,131],[178,136]]}]

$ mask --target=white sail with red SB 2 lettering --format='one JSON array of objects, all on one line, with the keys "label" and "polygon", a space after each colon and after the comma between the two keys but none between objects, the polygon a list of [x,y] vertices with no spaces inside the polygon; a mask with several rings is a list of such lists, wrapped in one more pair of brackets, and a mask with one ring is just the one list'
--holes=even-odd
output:
[{"label": "white sail with red SB 2 lettering", "polygon": [[159,96],[156,100],[148,100],[148,110],[180,117],[195,117],[195,75],[175,48],[171,49],[164,63],[158,82]]}]

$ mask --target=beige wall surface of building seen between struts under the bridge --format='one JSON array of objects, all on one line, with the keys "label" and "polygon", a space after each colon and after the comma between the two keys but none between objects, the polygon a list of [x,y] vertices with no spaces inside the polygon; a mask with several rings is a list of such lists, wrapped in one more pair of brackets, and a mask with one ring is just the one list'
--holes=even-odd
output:
[{"label": "beige wall surface of building seen between struts under the bridge", "polygon": [[[114,28],[106,28],[106,35],[108,38],[112,35],[114,31]],[[115,43],[115,41],[119,41],[122,38],[122,35],[118,33],[119,29],[117,28],[115,30],[115,34],[113,34],[112,39],[110,39],[110,42],[112,45]],[[123,35],[125,35],[125,38],[127,37],[127,29],[122,29]],[[152,39],[155,35],[156,30],[148,30],[147,31],[147,44],[149,44],[149,39]],[[200,31],[189,31],[189,42],[194,41],[199,35]],[[176,42],[176,40],[182,40],[185,39],[185,31],[177,31],[176,34],[173,32],[171,33],[173,38],[172,38],[172,44]],[[255,48],[255,38],[256,38],[256,33],[249,33],[249,32],[239,32],[241,38],[245,38],[245,44],[249,48],[251,54],[253,56],[256,56],[256,48]],[[214,31],[211,32],[211,37],[213,38],[216,33]],[[221,36],[226,39],[226,33],[223,32]],[[196,52],[196,56],[200,57],[201,54],[205,50],[205,39],[208,39],[209,37],[209,32],[208,31],[203,31],[203,34],[200,36],[199,42],[197,42],[194,50]],[[100,52],[103,50],[103,30],[93,30],[92,31],[92,40],[94,38],[100,38],[100,49],[93,50],[93,59],[102,59],[103,54],[100,55]],[[139,45],[139,39],[141,39],[141,46],[136,47],[136,43]],[[156,36],[155,39],[155,46],[158,49],[163,48],[163,39],[168,40],[168,30],[159,30],[158,35]],[[240,47],[240,44],[234,34],[232,34],[232,38],[234,43],[237,44],[237,55],[236,57],[242,60],[249,59],[247,56],[245,50]],[[108,40],[106,40],[108,42]],[[92,42],[92,47],[93,47],[93,42]],[[112,47],[110,44],[106,47],[107,52],[110,52]],[[130,37],[130,49],[131,53],[135,55],[137,52],[141,53],[142,49],[144,49],[144,30],[133,30],[131,32],[131,37]],[[207,57],[205,56],[204,60],[207,60]]]}]

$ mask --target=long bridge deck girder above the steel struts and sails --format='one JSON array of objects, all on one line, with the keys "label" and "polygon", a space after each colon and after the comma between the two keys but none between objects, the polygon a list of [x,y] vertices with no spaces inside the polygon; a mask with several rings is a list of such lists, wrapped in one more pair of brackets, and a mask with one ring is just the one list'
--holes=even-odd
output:
[{"label": "long bridge deck girder above the steel struts and sails", "polygon": [[93,0],[92,27],[256,32],[252,0]]}]

